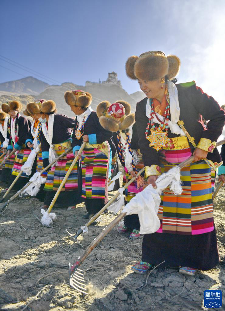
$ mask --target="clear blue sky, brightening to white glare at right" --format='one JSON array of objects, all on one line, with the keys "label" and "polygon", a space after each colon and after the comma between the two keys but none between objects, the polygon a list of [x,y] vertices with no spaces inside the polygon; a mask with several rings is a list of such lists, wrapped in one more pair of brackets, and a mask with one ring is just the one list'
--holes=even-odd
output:
[{"label": "clear blue sky, brightening to white glare at right", "polygon": [[[115,71],[133,93],[139,87],[125,74],[126,59],[162,50],[180,57],[179,82],[195,80],[222,105],[224,16],[223,0],[1,0],[0,55],[60,83],[84,85]],[[0,83],[40,78],[1,56],[0,66],[14,71],[0,67]]]}]

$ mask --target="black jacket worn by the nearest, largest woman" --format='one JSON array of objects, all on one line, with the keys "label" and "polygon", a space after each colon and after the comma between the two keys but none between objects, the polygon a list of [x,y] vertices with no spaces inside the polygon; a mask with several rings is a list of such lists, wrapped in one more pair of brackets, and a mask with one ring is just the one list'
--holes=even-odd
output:
[{"label": "black jacket worn by the nearest, largest woman", "polygon": [[[198,144],[201,137],[208,138],[211,142],[216,142],[223,130],[225,121],[224,110],[220,108],[213,97],[205,94],[201,88],[197,87],[194,81],[176,84],[176,87],[180,105],[180,121],[184,122],[184,127],[190,136],[194,137],[195,144]],[[147,97],[137,103],[136,107],[135,121],[139,137],[138,143],[143,155],[144,165],[151,166],[155,164],[160,166],[157,151],[153,147],[149,147],[149,141],[145,137],[148,123],[146,103]],[[204,131],[202,124],[199,122],[201,116],[205,120],[209,120],[206,131]],[[177,136],[179,135],[172,134],[170,130],[168,131],[169,138]],[[195,148],[191,143],[189,145],[193,152]],[[207,159],[213,162],[221,162],[221,157],[216,148],[213,150],[213,153],[208,153]]]}]

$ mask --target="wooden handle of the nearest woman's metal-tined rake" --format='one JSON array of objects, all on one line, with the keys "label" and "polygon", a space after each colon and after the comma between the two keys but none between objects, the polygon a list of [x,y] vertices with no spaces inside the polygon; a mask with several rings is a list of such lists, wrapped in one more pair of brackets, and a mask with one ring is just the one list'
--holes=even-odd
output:
[{"label": "wooden handle of the nearest woman's metal-tined rake", "polygon": [[[217,146],[223,145],[225,143],[225,139],[218,142]],[[180,169],[185,167],[186,165],[190,164],[194,161],[194,156],[191,156],[189,159],[181,162],[179,165]],[[156,181],[157,183],[157,181]],[[115,227],[115,225],[126,215],[126,213],[120,213],[116,218],[110,222],[110,224],[102,230],[102,232],[91,242],[91,244],[86,248],[84,253],[78,258],[77,262],[75,262],[70,268],[69,273],[70,277],[73,277],[74,273],[76,272],[77,268],[84,262],[87,256],[92,252],[92,250],[101,242],[101,240]]]}]

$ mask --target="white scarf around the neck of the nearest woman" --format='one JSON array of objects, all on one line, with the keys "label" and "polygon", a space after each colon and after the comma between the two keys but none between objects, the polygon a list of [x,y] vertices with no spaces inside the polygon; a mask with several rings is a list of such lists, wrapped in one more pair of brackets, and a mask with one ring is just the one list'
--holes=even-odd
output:
[{"label": "white scarf around the neck of the nearest woman", "polygon": [[[167,82],[167,88],[170,96],[170,118],[171,120],[168,120],[168,126],[171,130],[171,133],[174,134],[180,134],[180,136],[185,136],[185,133],[183,130],[178,126],[177,122],[179,121],[180,118],[180,106],[179,106],[179,100],[178,100],[178,92],[176,85],[168,81]],[[151,113],[151,104],[150,104],[150,99],[147,99],[146,103],[146,116],[149,118]],[[163,116],[157,114],[157,117],[163,121]],[[159,121],[157,120],[156,116],[154,115],[153,122],[159,124]]]}]

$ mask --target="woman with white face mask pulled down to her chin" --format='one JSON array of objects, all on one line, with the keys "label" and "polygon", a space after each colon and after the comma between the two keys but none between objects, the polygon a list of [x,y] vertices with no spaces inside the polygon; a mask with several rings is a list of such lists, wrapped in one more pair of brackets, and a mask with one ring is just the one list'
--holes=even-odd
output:
[{"label": "woman with white face mask pulled down to her chin", "polygon": [[[28,108],[29,109],[29,108]],[[74,119],[63,114],[56,114],[56,104],[47,100],[41,105],[41,150],[43,166],[46,167],[56,157],[71,147]],[[48,208],[58,190],[68,168],[73,162],[73,152],[69,151],[49,170],[45,182],[46,196],[42,208]],[[77,203],[77,165],[75,165],[63,186],[55,207],[67,207],[69,211],[76,208]]]}]

